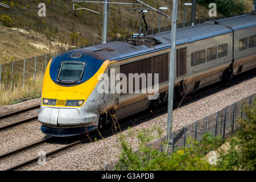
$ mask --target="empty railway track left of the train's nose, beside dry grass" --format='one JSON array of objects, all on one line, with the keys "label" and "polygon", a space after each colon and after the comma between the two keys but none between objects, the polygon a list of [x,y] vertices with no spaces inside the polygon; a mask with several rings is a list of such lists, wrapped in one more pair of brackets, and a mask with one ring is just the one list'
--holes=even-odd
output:
[{"label": "empty railway track left of the train's nose, beside dry grass", "polygon": [[[31,111],[31,110],[34,110],[34,109],[39,109],[39,108],[40,108],[40,105],[36,105],[36,106],[28,107],[26,109],[15,111],[13,113],[8,113],[8,114],[5,114],[5,115],[0,115],[0,122],[3,119],[7,119],[7,118],[10,118],[10,117],[13,117],[15,119],[16,115],[23,114],[23,113],[26,113],[28,111]],[[10,124],[0,126],[0,131],[5,130],[5,129],[9,129],[10,127],[14,127],[14,126],[20,125],[22,123],[26,123],[26,122],[30,122],[30,121],[35,121],[36,119],[38,119],[38,116],[37,115],[32,115],[32,117],[29,117],[29,118],[26,118],[26,119],[20,119],[20,120],[18,120],[16,122],[12,122]],[[3,121],[1,124],[4,124],[4,123],[5,123],[5,121]]]}]

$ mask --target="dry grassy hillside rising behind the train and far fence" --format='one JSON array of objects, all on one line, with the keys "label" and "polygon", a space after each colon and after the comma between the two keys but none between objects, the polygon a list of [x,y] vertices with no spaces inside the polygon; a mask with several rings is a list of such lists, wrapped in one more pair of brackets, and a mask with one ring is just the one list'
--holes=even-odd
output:
[{"label": "dry grassy hillside rising behind the train and far fence", "polygon": [[[45,2],[47,6],[47,16],[40,18],[37,11],[23,11],[21,13],[6,13],[11,18],[11,27],[26,27],[28,34],[22,32],[9,32],[0,34],[0,63],[7,63],[15,60],[22,60],[27,57],[42,55],[49,53],[49,50],[36,48],[30,43],[42,44],[46,46],[51,52],[58,51],[60,47],[53,46],[51,42],[61,42],[68,44],[69,46],[81,46],[84,44],[92,44],[101,40],[102,37],[102,9],[103,6],[97,3],[83,3],[78,4],[76,7],[87,7],[101,13],[101,15],[91,13],[85,10],[72,10],[72,3],[68,0],[54,0]],[[120,2],[127,2],[125,0]],[[129,1],[134,2],[136,1]],[[156,9],[159,6],[167,6],[168,11],[164,13],[171,16],[172,3],[167,0],[157,1],[144,1]],[[183,22],[184,15],[184,2],[191,2],[181,0],[178,5],[177,22]],[[5,2],[5,3],[11,3]],[[67,3],[64,6],[61,3]],[[246,1],[248,8],[246,11],[251,11],[251,1]],[[250,4],[250,6],[249,6]],[[14,10],[27,9],[27,5],[32,9],[36,8],[37,3],[34,0],[16,1],[13,5]],[[108,39],[116,38],[118,35],[130,35],[133,32],[138,32],[139,29],[139,14],[138,12],[129,11],[138,6],[130,5],[109,5],[109,24],[108,24]],[[143,7],[143,6],[140,6]],[[208,7],[203,5],[197,5],[197,19],[209,18]],[[6,11],[0,7],[0,11]],[[187,7],[186,20],[191,19],[191,7]],[[5,14],[0,14],[5,15]],[[221,16],[221,14],[217,14]],[[151,28],[158,28],[159,26],[159,14],[150,12],[146,14],[147,23]],[[168,18],[162,16],[161,26],[170,26],[171,21]],[[97,22],[97,23],[95,23]],[[36,26],[36,27],[35,27]],[[7,31],[9,28],[2,26],[0,23],[0,29]],[[73,41],[73,35],[77,32],[77,40]]]}]

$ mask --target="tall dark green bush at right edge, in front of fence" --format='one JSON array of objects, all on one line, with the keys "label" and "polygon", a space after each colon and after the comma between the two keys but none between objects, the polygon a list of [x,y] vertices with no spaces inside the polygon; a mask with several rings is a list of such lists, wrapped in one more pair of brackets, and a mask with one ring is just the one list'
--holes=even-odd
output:
[{"label": "tall dark green bush at right edge, in front of fence", "polygon": [[218,166],[228,170],[256,169],[256,97],[251,106],[243,106],[243,111],[246,119],[238,120],[241,130],[230,141],[229,150],[220,152]]}]

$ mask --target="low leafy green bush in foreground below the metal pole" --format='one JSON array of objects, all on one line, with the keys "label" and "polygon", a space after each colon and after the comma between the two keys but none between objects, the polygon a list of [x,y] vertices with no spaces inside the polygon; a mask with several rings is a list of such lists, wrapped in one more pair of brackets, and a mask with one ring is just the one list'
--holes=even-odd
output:
[{"label": "low leafy green bush in foreground below the metal pole", "polygon": [[[216,165],[210,165],[204,159],[205,153],[216,150],[220,146],[220,137],[212,137],[209,133],[205,134],[203,140],[196,141],[188,139],[185,147],[177,149],[174,154],[168,154],[167,151],[159,151],[154,147],[149,147],[148,143],[152,142],[155,137],[151,133],[156,129],[142,131],[131,131],[126,135],[120,135],[122,153],[119,163],[115,166],[116,170],[220,170]],[[157,129],[160,137],[160,129]],[[138,139],[139,150],[133,150],[127,137]],[[164,148],[164,147],[163,147]]]}]

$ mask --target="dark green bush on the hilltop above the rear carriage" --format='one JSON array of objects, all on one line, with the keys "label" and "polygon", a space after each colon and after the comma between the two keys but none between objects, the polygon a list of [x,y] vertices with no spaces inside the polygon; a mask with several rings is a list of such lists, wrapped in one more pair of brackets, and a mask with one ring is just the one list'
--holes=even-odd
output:
[{"label": "dark green bush on the hilltop above the rear carriage", "polygon": [[210,3],[216,3],[218,13],[224,16],[230,14],[240,14],[245,10],[245,2],[243,0],[197,0],[197,3],[209,6]]}]

